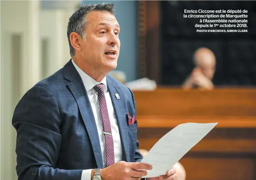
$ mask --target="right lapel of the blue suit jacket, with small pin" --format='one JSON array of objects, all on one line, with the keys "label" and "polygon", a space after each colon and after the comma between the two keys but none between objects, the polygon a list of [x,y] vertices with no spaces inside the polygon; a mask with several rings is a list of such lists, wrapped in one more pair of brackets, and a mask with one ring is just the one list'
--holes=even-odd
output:
[{"label": "right lapel of the blue suit jacket, with small pin", "polygon": [[[130,153],[129,153],[129,137],[128,137],[128,129],[126,124],[126,117],[123,106],[123,97],[122,93],[118,87],[114,86],[114,84],[110,81],[107,76],[107,86],[110,92],[111,101],[113,104],[117,125],[120,132],[121,143],[123,147],[123,158],[126,162],[130,162]],[[115,93],[119,94],[119,99],[116,98]]]}]

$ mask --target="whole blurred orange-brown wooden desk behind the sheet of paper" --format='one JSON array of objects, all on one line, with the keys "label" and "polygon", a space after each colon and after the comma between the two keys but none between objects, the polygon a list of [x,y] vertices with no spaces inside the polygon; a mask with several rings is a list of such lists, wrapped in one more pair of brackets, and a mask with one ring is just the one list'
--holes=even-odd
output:
[{"label": "whole blurred orange-brown wooden desk behind the sheet of paper", "polygon": [[256,180],[256,89],[134,91],[140,148],[185,122],[219,124],[181,160],[186,180]]}]

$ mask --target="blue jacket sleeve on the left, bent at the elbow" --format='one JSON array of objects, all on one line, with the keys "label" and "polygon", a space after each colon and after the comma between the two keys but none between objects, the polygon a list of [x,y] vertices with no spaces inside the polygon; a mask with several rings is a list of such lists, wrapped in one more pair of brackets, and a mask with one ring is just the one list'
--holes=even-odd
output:
[{"label": "blue jacket sleeve on the left, bent at the elbow", "polygon": [[12,124],[17,131],[18,180],[81,180],[82,170],[55,168],[62,135],[62,120],[52,93],[36,86],[15,108]]}]

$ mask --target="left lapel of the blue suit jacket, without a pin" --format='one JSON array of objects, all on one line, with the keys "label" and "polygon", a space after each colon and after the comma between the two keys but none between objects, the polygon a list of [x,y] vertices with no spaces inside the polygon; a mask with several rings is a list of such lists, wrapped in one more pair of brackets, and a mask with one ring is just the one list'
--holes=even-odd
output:
[{"label": "left lapel of the blue suit jacket, without a pin", "polygon": [[64,67],[64,71],[65,79],[71,81],[68,84],[68,87],[73,93],[73,96],[80,110],[83,122],[85,124],[85,128],[89,134],[97,166],[98,168],[104,168],[96,122],[81,77],[79,76],[71,61],[68,62],[68,64]]}]

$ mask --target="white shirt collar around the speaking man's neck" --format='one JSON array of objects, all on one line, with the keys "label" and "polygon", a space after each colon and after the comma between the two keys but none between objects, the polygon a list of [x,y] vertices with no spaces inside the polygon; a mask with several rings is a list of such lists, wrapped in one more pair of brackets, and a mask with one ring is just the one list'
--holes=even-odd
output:
[{"label": "white shirt collar around the speaking man's neck", "polygon": [[88,92],[89,90],[92,90],[95,85],[101,84],[101,83],[105,85],[105,93],[107,92],[108,87],[107,87],[106,76],[103,78],[101,82],[97,82],[91,76],[86,74],[82,69],[80,69],[76,65],[76,63],[73,61],[73,59],[72,59],[72,63],[83,81],[83,85],[85,87],[86,92]]}]

